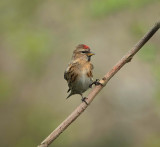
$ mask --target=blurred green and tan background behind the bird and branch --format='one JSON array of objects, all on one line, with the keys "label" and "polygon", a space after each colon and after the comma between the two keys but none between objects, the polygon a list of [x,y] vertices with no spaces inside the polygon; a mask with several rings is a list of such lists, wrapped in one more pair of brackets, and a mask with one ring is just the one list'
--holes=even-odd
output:
[{"label": "blurred green and tan background behind the bird and branch", "polygon": [[[81,103],[65,99],[75,46],[100,78],[159,20],[159,0],[0,1],[0,146],[37,146]],[[53,146],[160,146],[160,31]]]}]

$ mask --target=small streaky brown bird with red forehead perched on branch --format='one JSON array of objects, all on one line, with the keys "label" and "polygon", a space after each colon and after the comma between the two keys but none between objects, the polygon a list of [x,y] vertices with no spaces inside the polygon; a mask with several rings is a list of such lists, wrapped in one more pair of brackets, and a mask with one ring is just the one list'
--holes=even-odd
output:
[{"label": "small streaky brown bird with red forehead perched on branch", "polygon": [[83,97],[82,93],[97,82],[93,82],[93,65],[90,62],[92,55],[95,54],[84,44],[79,44],[73,51],[71,62],[64,72],[64,79],[69,87],[67,92],[71,91],[67,98],[74,94],[80,94],[82,101],[86,103],[86,98]]}]

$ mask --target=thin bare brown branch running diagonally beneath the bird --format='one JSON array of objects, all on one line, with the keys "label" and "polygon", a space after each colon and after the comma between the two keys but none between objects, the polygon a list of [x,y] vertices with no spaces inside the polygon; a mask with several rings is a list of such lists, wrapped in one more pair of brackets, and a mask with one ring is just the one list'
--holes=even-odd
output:
[{"label": "thin bare brown branch running diagonally beneath the bird", "polygon": [[[105,86],[108,81],[142,48],[142,46],[156,33],[160,28],[160,22],[156,23],[151,30],[126,54],[123,58],[100,80]],[[97,85],[89,93],[86,100],[90,104],[95,96],[104,86]],[[81,103],[38,147],[48,147],[80,114],[88,107],[84,102]]]}]

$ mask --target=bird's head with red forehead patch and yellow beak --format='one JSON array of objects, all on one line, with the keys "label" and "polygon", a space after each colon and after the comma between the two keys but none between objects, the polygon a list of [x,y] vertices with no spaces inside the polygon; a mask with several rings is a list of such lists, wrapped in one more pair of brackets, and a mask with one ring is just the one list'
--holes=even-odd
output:
[{"label": "bird's head with red forehead patch and yellow beak", "polygon": [[90,61],[91,56],[95,55],[90,51],[90,48],[85,44],[79,44],[76,49],[73,51],[72,59],[83,59]]}]

